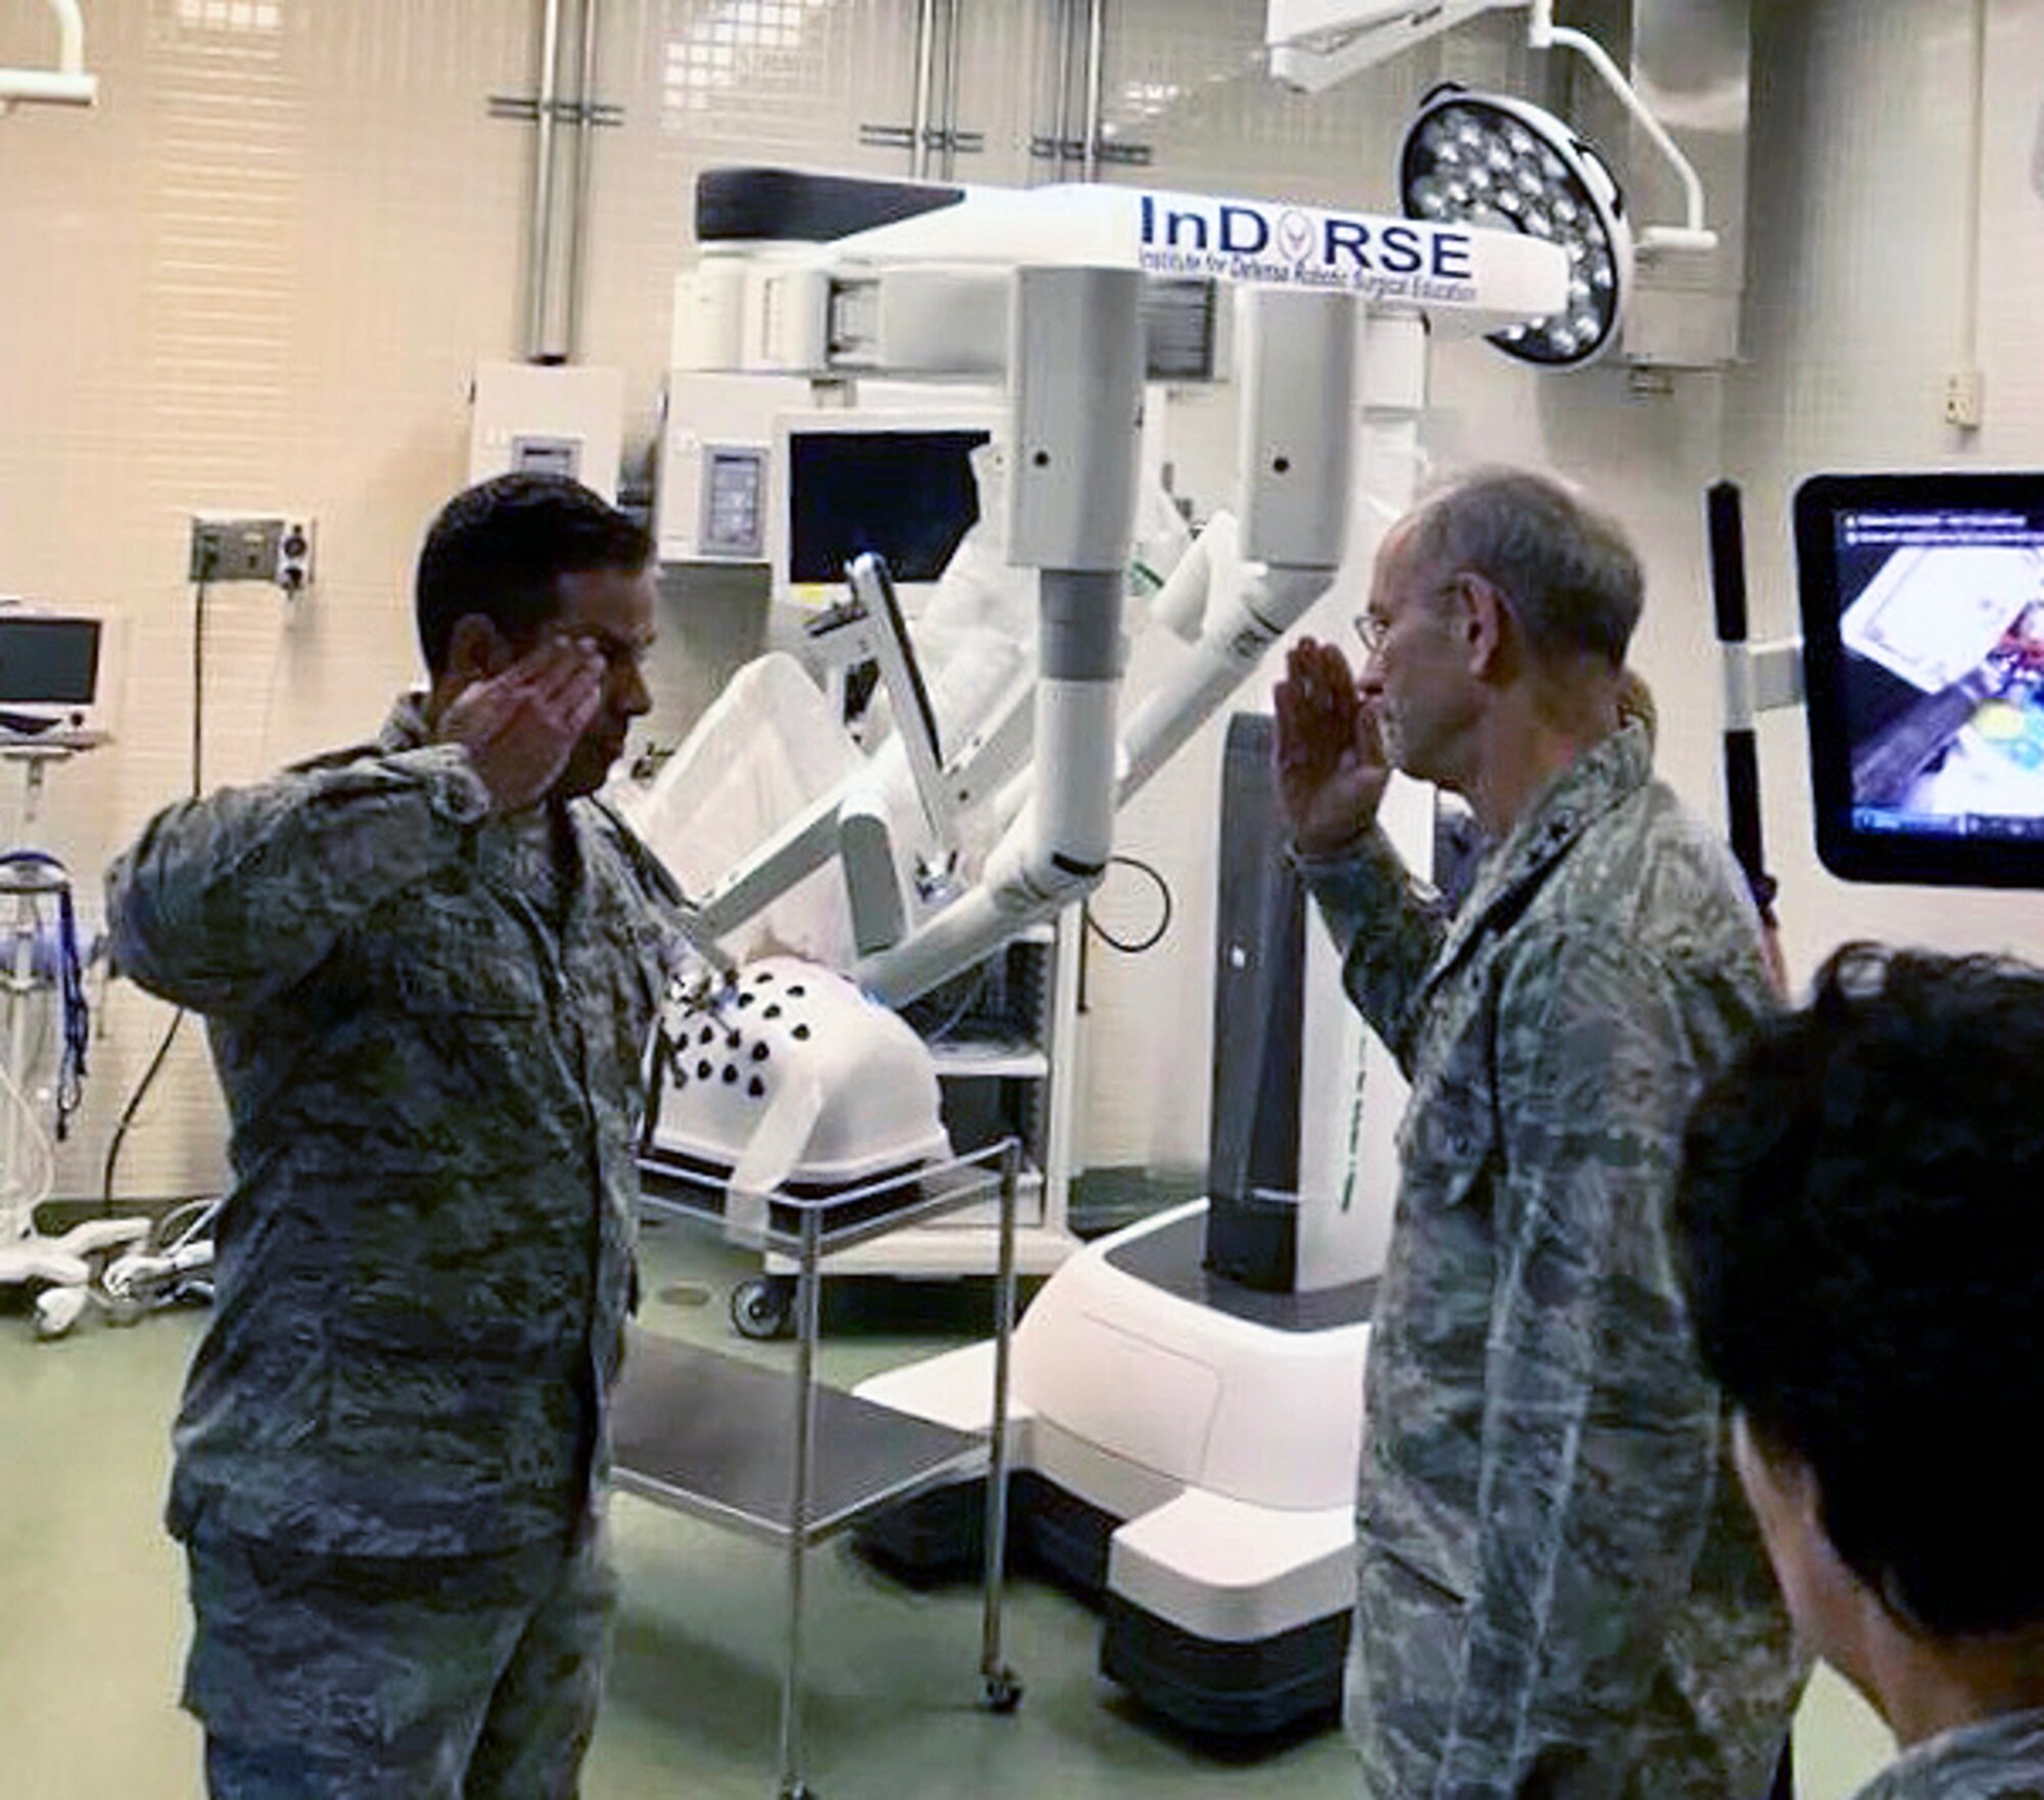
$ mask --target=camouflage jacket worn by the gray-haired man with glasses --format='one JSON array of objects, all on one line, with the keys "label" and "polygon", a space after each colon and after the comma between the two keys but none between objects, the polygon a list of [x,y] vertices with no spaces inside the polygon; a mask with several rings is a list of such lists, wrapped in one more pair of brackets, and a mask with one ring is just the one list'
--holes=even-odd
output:
[{"label": "camouflage jacket worn by the gray-haired man with glasses", "polygon": [[1788,1624],[1688,1340],[1684,1111],[1772,1004],[1729,855],[1594,745],[1447,918],[1300,859],[1412,1080],[1365,1375],[1349,1726],[1382,1800],[1766,1790]]}]

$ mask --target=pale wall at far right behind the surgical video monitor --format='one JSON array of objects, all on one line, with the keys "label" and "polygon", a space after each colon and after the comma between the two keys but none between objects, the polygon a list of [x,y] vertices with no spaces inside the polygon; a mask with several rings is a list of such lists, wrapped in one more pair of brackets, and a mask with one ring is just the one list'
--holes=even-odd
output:
[{"label": "pale wall at far right behind the surgical video monitor", "polygon": [[[1985,430],[1944,423],[1964,344],[1975,0],[1756,10],[1752,362],[1729,380],[1756,632],[1795,630],[1788,501],[1821,468],[2044,466],[2044,4],[1991,0],[1979,344]],[[2034,896],[1866,888],[1817,865],[1801,716],[1762,728],[1768,853],[1797,978],[1850,937],[2044,955]]]}]

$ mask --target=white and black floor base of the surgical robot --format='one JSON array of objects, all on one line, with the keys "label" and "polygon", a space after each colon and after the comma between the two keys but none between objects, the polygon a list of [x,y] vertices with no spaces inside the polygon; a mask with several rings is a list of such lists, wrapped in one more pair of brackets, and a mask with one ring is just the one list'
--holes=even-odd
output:
[{"label": "white and black floor base of the surgical robot", "polygon": [[[1012,1559],[1106,1612],[1102,1669],[1202,1737],[1333,1722],[1355,1600],[1372,1285],[1265,1295],[1200,1266],[1206,1205],[1087,1246],[1014,1344]],[[991,1346],[861,1399],[985,1430]],[[861,1548],[908,1579],[977,1567],[975,1483],[881,1514]]]}]

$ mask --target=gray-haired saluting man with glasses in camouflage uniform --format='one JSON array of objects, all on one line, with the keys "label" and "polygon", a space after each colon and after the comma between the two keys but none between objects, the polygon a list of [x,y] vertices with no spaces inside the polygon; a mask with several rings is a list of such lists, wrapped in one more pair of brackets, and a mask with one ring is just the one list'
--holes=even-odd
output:
[{"label": "gray-haired saluting man with glasses in camouflage uniform", "polygon": [[[1361,683],[1304,640],[1278,783],[1412,1080],[1365,1377],[1349,1730],[1372,1800],[1754,1800],[1797,1671],[1668,1254],[1682,1119],[1770,1012],[1729,855],[1621,722],[1639,562],[1549,481],[1396,526]],[[1490,851],[1453,916],[1392,767]]]}]

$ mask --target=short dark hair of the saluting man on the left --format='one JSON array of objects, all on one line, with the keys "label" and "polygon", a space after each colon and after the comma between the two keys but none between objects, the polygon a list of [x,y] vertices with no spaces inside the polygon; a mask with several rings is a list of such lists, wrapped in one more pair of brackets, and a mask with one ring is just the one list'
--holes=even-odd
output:
[{"label": "short dark hair of the saluting man on the left", "polygon": [[560,612],[560,577],[601,569],[638,575],[652,538],[601,495],[564,475],[499,475],[450,499],[419,550],[413,597],[425,667],[448,667],[464,614],[482,614],[527,646]]}]

